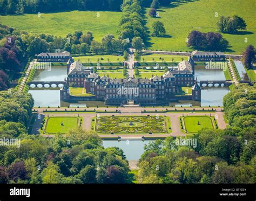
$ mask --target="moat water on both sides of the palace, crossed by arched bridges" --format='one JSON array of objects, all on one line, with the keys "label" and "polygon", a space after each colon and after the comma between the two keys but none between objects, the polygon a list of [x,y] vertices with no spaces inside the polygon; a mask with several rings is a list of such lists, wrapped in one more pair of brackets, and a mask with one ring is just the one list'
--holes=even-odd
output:
[{"label": "moat water on both sides of the palace, crossed by arched bridges", "polygon": [[[53,66],[51,71],[38,70],[33,81],[63,81],[66,67]],[[196,66],[195,76],[198,80],[225,80],[222,70],[208,70],[204,66]],[[227,87],[203,87],[201,91],[201,106],[223,106],[223,96],[228,92]],[[103,101],[60,102],[59,90],[30,90],[35,100],[35,107],[104,107]],[[170,102],[169,106],[200,106],[198,101]]]}]

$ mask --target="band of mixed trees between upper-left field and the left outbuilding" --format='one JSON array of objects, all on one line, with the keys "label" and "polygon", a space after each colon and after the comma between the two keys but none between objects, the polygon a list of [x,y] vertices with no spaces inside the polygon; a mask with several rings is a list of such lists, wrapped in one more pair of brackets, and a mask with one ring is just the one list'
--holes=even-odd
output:
[{"label": "band of mixed trees between upper-left field and the left outbuilding", "polygon": [[[142,49],[140,40],[133,41],[136,48]],[[71,53],[123,53],[131,42],[126,39],[114,38],[107,34],[102,41],[95,41],[93,33],[75,31],[66,37],[57,37],[45,33],[28,33],[18,31],[0,24],[0,91],[9,86],[9,78],[16,79],[19,72],[23,71],[28,58],[33,58],[42,52],[69,51]]]}]

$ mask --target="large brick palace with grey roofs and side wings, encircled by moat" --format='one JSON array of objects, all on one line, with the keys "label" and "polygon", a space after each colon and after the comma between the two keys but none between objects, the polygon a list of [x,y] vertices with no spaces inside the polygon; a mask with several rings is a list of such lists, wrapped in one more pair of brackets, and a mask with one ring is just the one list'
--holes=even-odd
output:
[{"label": "large brick palace with grey roofs and side wings, encircled by moat", "polygon": [[192,100],[201,99],[201,88],[194,84],[194,63],[181,61],[178,68],[169,70],[162,76],[152,76],[150,79],[125,78],[111,79],[100,77],[90,70],[85,70],[78,61],[68,65],[66,86],[60,92],[62,98],[69,98],[66,87],[85,87],[86,93],[95,95],[95,100],[104,100],[106,105],[126,105],[128,102],[143,105],[154,105],[157,101],[175,99],[179,87],[193,87]]}]

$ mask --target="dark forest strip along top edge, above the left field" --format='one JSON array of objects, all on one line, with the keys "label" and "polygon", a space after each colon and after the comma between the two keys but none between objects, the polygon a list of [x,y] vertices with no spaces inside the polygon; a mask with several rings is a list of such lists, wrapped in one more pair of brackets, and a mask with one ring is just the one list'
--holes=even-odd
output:
[{"label": "dark forest strip along top edge, above the left field", "polygon": [[0,14],[38,13],[66,10],[120,11],[122,0],[3,0]]}]

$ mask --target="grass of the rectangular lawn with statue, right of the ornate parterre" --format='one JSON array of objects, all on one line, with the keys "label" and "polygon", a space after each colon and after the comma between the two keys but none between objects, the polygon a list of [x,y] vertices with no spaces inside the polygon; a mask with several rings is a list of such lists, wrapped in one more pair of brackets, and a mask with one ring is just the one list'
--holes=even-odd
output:
[{"label": "grass of the rectangular lawn with statue, right of the ornate parterre", "polygon": [[214,129],[211,117],[209,116],[185,116],[183,120],[188,133],[197,133],[203,128]]}]

